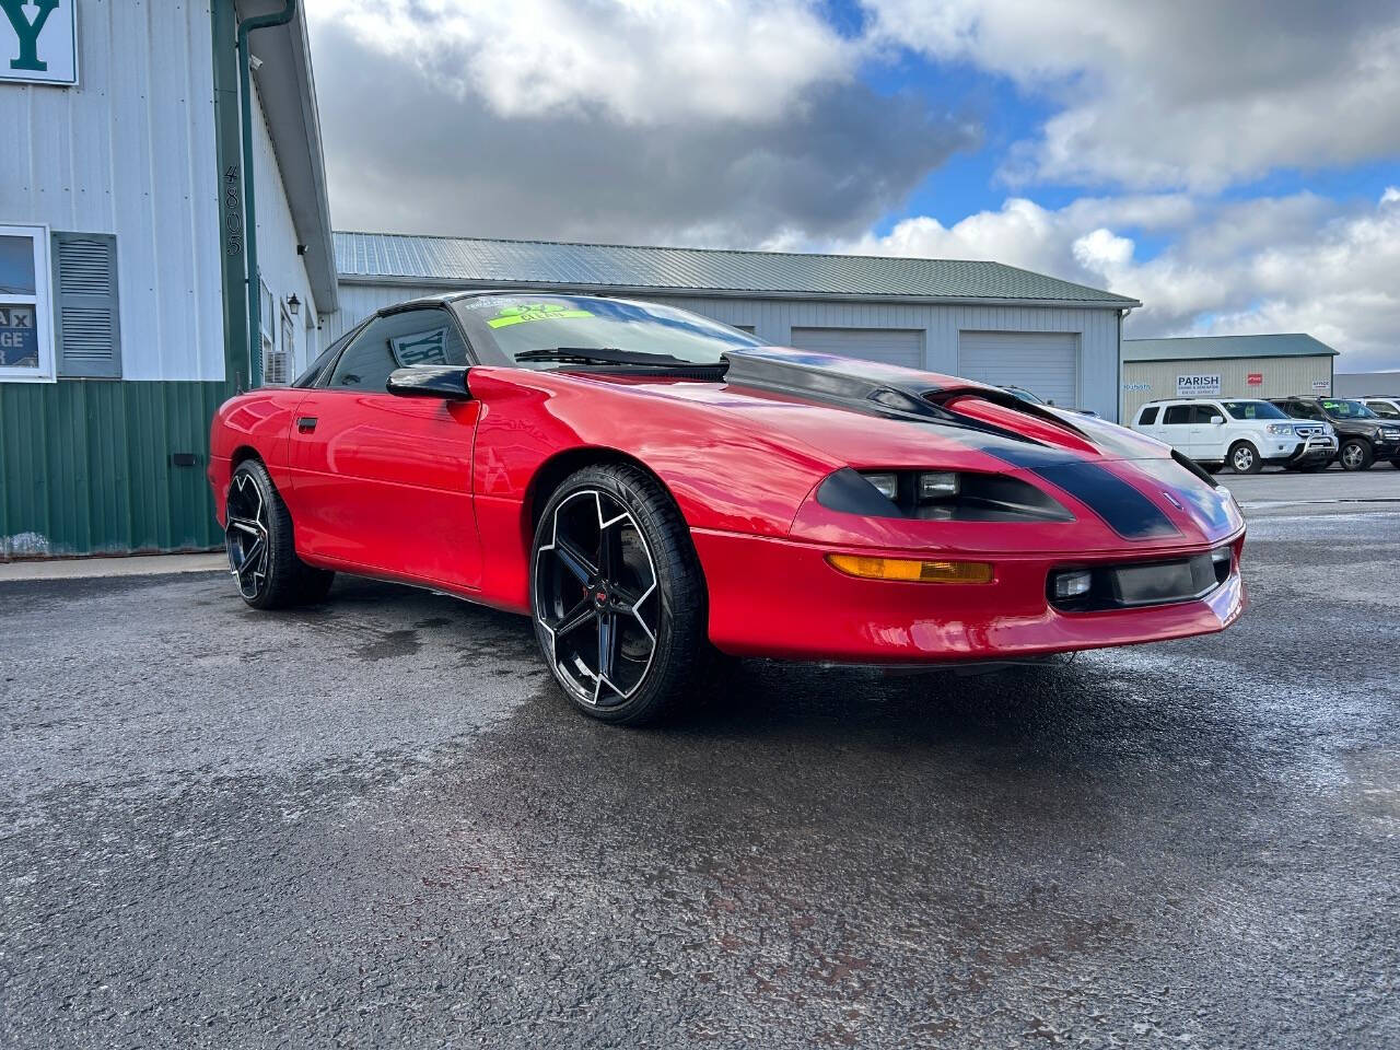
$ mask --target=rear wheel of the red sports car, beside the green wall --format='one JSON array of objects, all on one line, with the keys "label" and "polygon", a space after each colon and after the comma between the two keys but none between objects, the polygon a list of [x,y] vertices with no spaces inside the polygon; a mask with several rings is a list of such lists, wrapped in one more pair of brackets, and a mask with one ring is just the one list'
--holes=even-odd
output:
[{"label": "rear wheel of the red sports car, beside the green wall", "polygon": [[228,570],[248,605],[286,609],[326,596],[336,574],[297,557],[291,514],[259,461],[245,459],[234,470],[224,510]]}]

